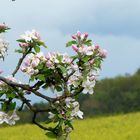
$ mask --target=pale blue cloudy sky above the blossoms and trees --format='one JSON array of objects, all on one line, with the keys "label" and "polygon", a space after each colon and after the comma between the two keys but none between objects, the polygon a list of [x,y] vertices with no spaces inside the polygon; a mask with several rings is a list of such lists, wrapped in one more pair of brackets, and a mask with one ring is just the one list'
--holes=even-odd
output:
[{"label": "pale blue cloudy sky above the blossoms and trees", "polygon": [[125,73],[140,67],[140,1],[139,0],[0,0],[0,23],[12,30],[9,56],[0,67],[11,72],[19,55],[15,42],[26,30],[36,29],[49,46],[47,51],[66,50],[65,43],[77,30],[88,32],[95,44],[108,50],[101,78]]}]

